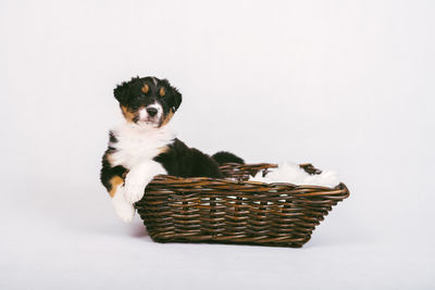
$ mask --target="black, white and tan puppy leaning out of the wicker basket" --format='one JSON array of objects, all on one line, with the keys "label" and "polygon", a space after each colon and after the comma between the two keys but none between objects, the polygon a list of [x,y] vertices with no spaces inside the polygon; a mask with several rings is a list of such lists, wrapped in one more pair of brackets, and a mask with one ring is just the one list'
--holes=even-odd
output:
[{"label": "black, white and tan puppy leaning out of the wicker basket", "polygon": [[182,103],[182,94],[166,79],[136,77],[117,86],[114,96],[125,123],[109,134],[101,182],[124,222],[133,219],[134,203],[144,197],[156,175],[219,178],[220,164],[244,163],[228,152],[210,157],[175,138],[167,124]]}]

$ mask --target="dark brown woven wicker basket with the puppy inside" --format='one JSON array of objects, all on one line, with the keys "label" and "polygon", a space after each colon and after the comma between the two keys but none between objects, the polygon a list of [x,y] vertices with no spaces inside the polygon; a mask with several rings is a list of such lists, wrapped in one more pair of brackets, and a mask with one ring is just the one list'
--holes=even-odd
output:
[{"label": "dark brown woven wicker basket with the puppy inside", "polygon": [[[276,164],[224,164],[223,179],[157,176],[135,206],[157,242],[220,242],[302,247],[337,202],[335,188],[247,181]],[[301,164],[309,174],[321,171]]]}]

